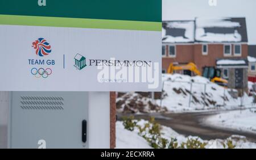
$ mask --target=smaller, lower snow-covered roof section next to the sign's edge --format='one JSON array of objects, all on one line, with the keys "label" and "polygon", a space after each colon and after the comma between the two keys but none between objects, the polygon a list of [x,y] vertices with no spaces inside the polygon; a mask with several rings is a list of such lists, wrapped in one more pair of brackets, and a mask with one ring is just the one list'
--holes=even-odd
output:
[{"label": "smaller, lower snow-covered roof section next to the sign's edge", "polygon": [[195,22],[193,20],[163,22],[163,43],[191,43],[194,41]]}]

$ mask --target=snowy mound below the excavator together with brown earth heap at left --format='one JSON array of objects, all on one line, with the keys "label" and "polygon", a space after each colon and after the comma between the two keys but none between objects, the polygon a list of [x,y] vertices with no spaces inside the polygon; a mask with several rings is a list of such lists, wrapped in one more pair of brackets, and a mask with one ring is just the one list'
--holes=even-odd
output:
[{"label": "snowy mound below the excavator together with brown earth heap at left", "polygon": [[118,112],[199,112],[237,109],[241,105],[245,106],[243,108],[253,106],[253,96],[245,93],[243,98],[238,97],[237,90],[225,89],[201,76],[163,74],[162,81],[162,100],[127,92],[117,98]]}]

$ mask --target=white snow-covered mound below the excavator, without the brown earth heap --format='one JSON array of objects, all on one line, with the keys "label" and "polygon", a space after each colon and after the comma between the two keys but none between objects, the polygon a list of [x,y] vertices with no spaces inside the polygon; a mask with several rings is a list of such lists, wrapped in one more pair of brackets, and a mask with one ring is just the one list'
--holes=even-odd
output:
[{"label": "white snow-covered mound below the excavator, without the brown earth heap", "polygon": [[[171,112],[191,112],[216,108],[229,110],[241,104],[251,107],[253,102],[253,97],[249,97],[247,94],[242,99],[234,98],[230,94],[232,90],[225,89],[201,76],[163,74],[162,81],[164,98],[156,100],[156,103]],[[237,91],[233,90],[233,93],[235,92]],[[191,102],[190,106],[189,102]]]}]

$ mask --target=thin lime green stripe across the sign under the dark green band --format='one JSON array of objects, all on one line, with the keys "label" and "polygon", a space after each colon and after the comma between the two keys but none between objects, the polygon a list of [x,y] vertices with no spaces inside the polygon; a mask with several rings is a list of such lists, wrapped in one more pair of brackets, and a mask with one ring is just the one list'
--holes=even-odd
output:
[{"label": "thin lime green stripe across the sign under the dark green band", "polygon": [[48,16],[0,15],[0,24],[19,26],[99,28],[113,30],[162,31],[161,22],[59,18]]}]

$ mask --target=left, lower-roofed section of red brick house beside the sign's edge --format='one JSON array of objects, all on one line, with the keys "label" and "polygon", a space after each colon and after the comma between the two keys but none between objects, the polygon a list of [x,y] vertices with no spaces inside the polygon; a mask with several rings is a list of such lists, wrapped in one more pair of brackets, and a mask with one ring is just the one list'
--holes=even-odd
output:
[{"label": "left, lower-roofed section of red brick house beside the sign's edge", "polygon": [[162,70],[170,63],[186,64],[194,61],[195,21],[164,21],[162,31]]}]

